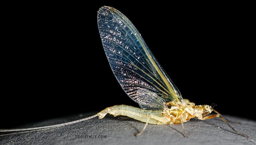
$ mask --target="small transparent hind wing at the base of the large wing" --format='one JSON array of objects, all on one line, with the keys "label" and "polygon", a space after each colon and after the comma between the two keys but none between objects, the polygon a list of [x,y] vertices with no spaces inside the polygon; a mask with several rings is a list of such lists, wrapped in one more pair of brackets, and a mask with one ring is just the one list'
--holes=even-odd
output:
[{"label": "small transparent hind wing at the base of the large wing", "polygon": [[150,110],[150,113],[160,115],[161,111],[152,110],[168,110],[165,100],[148,89],[140,88],[136,92],[136,97],[139,106],[147,112]]}]

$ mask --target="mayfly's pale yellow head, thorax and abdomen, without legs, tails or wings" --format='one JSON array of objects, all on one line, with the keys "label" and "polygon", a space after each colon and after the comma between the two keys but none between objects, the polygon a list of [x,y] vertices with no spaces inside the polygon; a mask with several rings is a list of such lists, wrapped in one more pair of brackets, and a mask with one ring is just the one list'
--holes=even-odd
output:
[{"label": "mayfly's pale yellow head, thorax and abdomen, without legs, tails or wings", "polygon": [[[168,110],[143,110],[137,107],[128,105],[115,105],[107,107],[98,113],[99,118],[105,117],[107,113],[112,114],[114,117],[123,115],[134,118],[141,122],[147,122],[150,124],[165,125],[165,124],[180,124],[182,122],[189,121],[191,118],[197,117],[200,120],[204,120],[204,116],[208,115],[211,110],[206,111],[204,106],[195,106],[193,102],[187,99],[183,99],[183,102],[168,102],[166,103]],[[203,114],[203,115],[202,115]]]}]

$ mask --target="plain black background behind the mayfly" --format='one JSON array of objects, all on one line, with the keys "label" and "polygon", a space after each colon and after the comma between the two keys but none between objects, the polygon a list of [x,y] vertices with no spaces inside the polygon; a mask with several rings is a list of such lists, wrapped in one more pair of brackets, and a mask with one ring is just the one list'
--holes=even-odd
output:
[{"label": "plain black background behind the mayfly", "polygon": [[12,3],[2,5],[1,128],[113,105],[139,107],[104,53],[97,27],[104,5],[132,21],[183,98],[253,118],[255,40],[247,6]]}]

